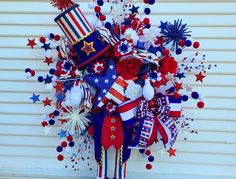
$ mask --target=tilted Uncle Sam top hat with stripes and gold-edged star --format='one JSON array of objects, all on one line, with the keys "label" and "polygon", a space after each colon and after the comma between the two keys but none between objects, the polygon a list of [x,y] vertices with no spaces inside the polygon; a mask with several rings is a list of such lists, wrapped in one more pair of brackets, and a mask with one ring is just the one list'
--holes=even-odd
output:
[{"label": "tilted Uncle Sam top hat with stripes and gold-edged star", "polygon": [[99,32],[92,28],[78,4],[62,12],[54,21],[78,53],[78,67],[95,60],[110,48],[110,45],[101,41]]}]

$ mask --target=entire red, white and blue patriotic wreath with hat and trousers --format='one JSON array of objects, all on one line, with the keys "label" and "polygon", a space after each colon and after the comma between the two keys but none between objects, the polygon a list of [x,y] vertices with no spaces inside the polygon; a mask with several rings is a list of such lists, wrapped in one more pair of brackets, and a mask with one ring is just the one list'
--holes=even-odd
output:
[{"label": "entire red, white and blue patriotic wreath with hat and trousers", "polygon": [[41,122],[45,135],[56,126],[57,159],[69,159],[65,167],[74,171],[93,170],[94,151],[97,179],[126,179],[134,150],[145,158],[147,170],[158,151],[151,146],[176,156],[179,130],[198,133],[190,127],[194,119],[183,103],[205,106],[193,83],[203,83],[214,67],[204,63],[187,24],[175,20],[154,26],[149,15],[158,6],[155,0],[88,2],[94,12],[90,18],[71,0],[51,4],[62,11],[55,18],[61,34],[26,39],[48,73],[30,67],[24,73],[28,79],[36,76],[50,92],[34,93],[29,100],[47,111]]}]

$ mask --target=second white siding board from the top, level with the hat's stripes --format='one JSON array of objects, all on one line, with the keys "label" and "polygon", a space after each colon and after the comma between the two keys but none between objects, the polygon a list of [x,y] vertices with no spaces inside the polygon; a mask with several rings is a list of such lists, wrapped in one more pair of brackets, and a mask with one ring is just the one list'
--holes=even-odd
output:
[{"label": "second white siding board from the top, level with the hat's stripes", "polygon": [[[17,18],[16,18],[17,17]],[[93,18],[93,15],[87,15],[88,19]],[[156,15],[150,15],[150,20],[153,25],[159,24],[156,20]],[[235,27],[234,21],[236,15],[178,15],[178,19],[183,22],[188,22],[189,26],[229,26]],[[55,14],[0,14],[0,24],[2,25],[54,25]],[[109,16],[108,16],[109,18]],[[158,15],[158,19],[163,21],[174,21],[176,16],[173,15]],[[217,21],[215,20],[217,19]]]}]

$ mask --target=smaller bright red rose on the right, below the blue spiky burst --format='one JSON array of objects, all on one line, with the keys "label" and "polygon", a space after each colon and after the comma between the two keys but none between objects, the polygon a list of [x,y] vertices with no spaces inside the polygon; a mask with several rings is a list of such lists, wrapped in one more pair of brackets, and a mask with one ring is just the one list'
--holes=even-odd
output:
[{"label": "smaller bright red rose on the right, below the blue spiky burst", "polygon": [[178,64],[173,57],[165,57],[160,62],[160,72],[166,75],[168,72],[171,74],[176,74]]}]

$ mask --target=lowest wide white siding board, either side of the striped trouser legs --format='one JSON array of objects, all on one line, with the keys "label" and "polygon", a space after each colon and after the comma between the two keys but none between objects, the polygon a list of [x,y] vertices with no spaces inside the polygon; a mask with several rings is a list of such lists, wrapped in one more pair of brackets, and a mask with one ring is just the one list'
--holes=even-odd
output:
[{"label": "lowest wide white siding board, either side of the striped trouser legs", "polygon": [[[24,158],[24,157],[0,157],[1,161],[4,161],[4,167],[12,167],[15,166],[17,168],[22,168],[22,166],[26,166],[25,168],[27,169],[31,169],[32,166],[30,165],[31,163],[35,163],[36,168],[39,169],[47,169],[49,172],[46,172],[44,174],[42,174],[43,176],[50,176],[54,175],[54,176],[58,176],[58,177],[62,177],[64,175],[68,176],[80,176],[85,174],[86,172],[86,176],[94,176],[95,171],[83,171],[82,172],[78,172],[78,173],[73,173],[70,172],[68,169],[68,171],[66,171],[65,169],[63,170],[63,166],[61,163],[59,162],[53,162],[54,159],[45,159],[45,158]],[[14,163],[14,165],[12,165]],[[53,165],[52,165],[53,164]],[[197,175],[197,176],[201,176],[201,175],[206,175],[206,176],[235,176],[233,170],[234,170],[234,166],[217,166],[217,165],[204,165],[204,167],[202,167],[203,165],[199,164],[178,164],[178,163],[158,163],[157,165],[153,165],[153,169],[152,169],[152,174],[150,173],[150,176],[158,176],[158,174],[175,174],[175,175],[181,175],[181,174],[185,174],[185,175]],[[54,169],[58,169],[59,171],[56,172],[56,170],[54,171],[55,173],[51,172]],[[147,173],[145,171],[145,165],[143,164],[143,162],[139,162],[139,161],[131,161],[128,164],[128,171],[130,172],[131,176],[132,176],[132,172],[135,173],[135,175],[139,174],[137,173],[137,168],[139,168],[139,172],[141,176],[144,176],[143,174],[145,173],[145,176],[149,176],[149,173]],[[170,170],[171,168],[171,170]],[[46,171],[46,170],[45,170]],[[61,171],[61,172],[60,172]],[[42,172],[42,171],[41,171]],[[28,173],[28,172],[27,172]],[[27,174],[26,173],[26,174]],[[143,174],[142,174],[143,173]],[[40,176],[40,173],[35,172],[34,173],[35,176]],[[37,175],[38,174],[38,175]],[[41,176],[42,176],[41,175]],[[133,175],[133,176],[135,176]],[[30,175],[28,175],[30,176]],[[64,177],[63,177],[64,178]],[[136,178],[136,177],[135,177]],[[152,178],[152,177],[150,177]]]}]

